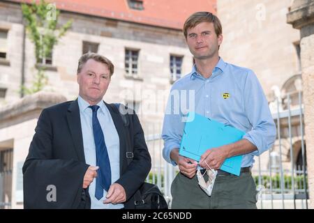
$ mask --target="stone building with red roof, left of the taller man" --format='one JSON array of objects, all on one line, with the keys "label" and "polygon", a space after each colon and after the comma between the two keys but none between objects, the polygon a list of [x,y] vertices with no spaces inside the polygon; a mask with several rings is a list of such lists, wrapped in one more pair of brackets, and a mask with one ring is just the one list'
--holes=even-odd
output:
[{"label": "stone building with red roof, left of the taller man", "polygon": [[[214,11],[216,1],[199,0],[190,6],[181,1],[166,4],[164,0],[136,0],[137,3],[144,2],[144,10],[150,8],[151,15],[128,8],[132,1],[110,3],[110,6],[117,6],[114,10],[124,8],[124,11],[114,13],[100,6],[86,8],[89,6],[83,6],[86,1],[76,1],[75,5],[72,1],[57,0],[57,7],[62,9],[60,24],[70,19],[73,24],[54,46],[51,58],[37,64],[46,68],[48,84],[43,94],[30,95],[22,100],[21,84],[30,86],[36,73],[33,43],[24,38],[20,1],[0,1],[0,153],[1,157],[12,161],[1,162],[10,163],[6,171],[11,174],[11,179],[7,178],[6,182],[10,181],[12,185],[2,188],[5,192],[0,190],[0,194],[5,194],[0,197],[0,202],[11,202],[12,208],[22,207],[21,162],[27,155],[40,109],[64,100],[75,100],[78,93],[77,61],[83,52],[98,52],[114,63],[114,75],[104,100],[128,103],[137,110],[144,132],[160,133],[170,87],[193,66],[192,55],[181,32],[184,19],[198,10]],[[50,93],[59,93],[64,98]],[[43,100],[47,102],[42,103]],[[40,106],[36,101],[41,101]],[[15,106],[14,114],[10,114],[12,105]],[[32,116],[25,114],[22,106],[31,107],[27,114]],[[157,147],[154,154],[160,157],[160,146]],[[0,208],[3,206],[6,204],[0,203]]]}]

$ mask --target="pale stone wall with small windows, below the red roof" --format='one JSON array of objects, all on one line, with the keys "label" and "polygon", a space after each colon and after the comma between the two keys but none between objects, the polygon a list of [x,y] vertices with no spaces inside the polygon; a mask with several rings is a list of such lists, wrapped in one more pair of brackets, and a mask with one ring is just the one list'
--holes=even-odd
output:
[{"label": "pale stone wall with small windows, below the red roof", "polygon": [[[12,16],[15,15],[15,16]],[[47,69],[48,86],[45,91],[65,95],[68,100],[77,97],[77,61],[82,55],[83,41],[99,43],[98,53],[107,56],[115,66],[107,102],[126,102],[135,98],[142,105],[147,102],[153,107],[165,106],[170,84],[170,54],[184,56],[182,75],[190,72],[193,59],[186,47],[180,30],[147,26],[102,17],[93,17],[63,12],[60,23],[73,19],[72,28],[59,40],[52,54],[52,68]],[[22,13],[15,3],[0,3],[0,29],[8,29],[8,60],[10,66],[0,65],[0,86],[8,89],[4,103],[20,98],[22,70]],[[140,79],[126,78],[124,71],[125,49],[138,49]],[[25,79],[27,86],[36,73],[33,44],[26,39]],[[134,95],[134,97],[130,97]],[[163,121],[163,109],[155,114],[140,115],[146,125]],[[147,127],[148,128],[148,127]]]}]

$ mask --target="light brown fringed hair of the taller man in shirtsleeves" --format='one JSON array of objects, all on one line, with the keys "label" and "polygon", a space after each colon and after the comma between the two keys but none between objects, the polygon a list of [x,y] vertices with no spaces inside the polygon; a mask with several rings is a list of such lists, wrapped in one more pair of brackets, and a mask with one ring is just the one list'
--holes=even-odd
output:
[{"label": "light brown fringed hair of the taller man in shirtsleeves", "polygon": [[212,22],[214,24],[216,35],[219,36],[223,34],[223,26],[221,26],[221,22],[216,15],[209,12],[197,12],[190,15],[184,23],[184,36],[187,38],[188,29],[194,28],[202,22]]}]

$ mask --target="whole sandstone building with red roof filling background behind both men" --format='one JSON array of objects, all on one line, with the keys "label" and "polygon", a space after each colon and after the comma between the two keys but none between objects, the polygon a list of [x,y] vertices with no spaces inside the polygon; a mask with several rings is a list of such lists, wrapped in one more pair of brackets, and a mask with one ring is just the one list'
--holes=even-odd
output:
[{"label": "whole sandstone building with red roof filling background behind both men", "polygon": [[[75,100],[77,61],[85,52],[114,63],[104,100],[128,104],[139,114],[153,159],[148,180],[171,201],[177,169],[163,161],[160,132],[170,88],[193,66],[181,29],[200,10],[218,15],[224,36],[220,56],[255,71],[278,126],[273,148],[255,158],[259,207],[307,207],[300,32],[287,24],[293,1],[50,1],[61,10],[59,23],[73,19],[73,24],[40,61],[24,28],[21,2],[31,3],[0,1],[0,208],[22,208],[21,168],[37,118],[44,107]],[[40,67],[47,85],[25,95],[21,86],[29,86]]]}]

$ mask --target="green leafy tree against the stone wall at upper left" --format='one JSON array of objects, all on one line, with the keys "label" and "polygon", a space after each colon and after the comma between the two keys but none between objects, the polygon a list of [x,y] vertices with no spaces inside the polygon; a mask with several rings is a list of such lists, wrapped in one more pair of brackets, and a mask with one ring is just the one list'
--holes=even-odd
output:
[{"label": "green leafy tree against the stone wall at upper left", "polygon": [[[35,1],[31,4],[22,3],[22,14],[29,39],[35,46],[36,63],[41,63],[52,54],[54,45],[57,45],[59,38],[65,35],[73,21],[69,20],[58,28],[60,10],[57,10],[55,4],[47,3],[45,0],[40,0],[38,4]],[[26,94],[36,93],[46,84],[45,68],[37,66],[32,86],[30,88],[22,86],[21,90]]]}]

